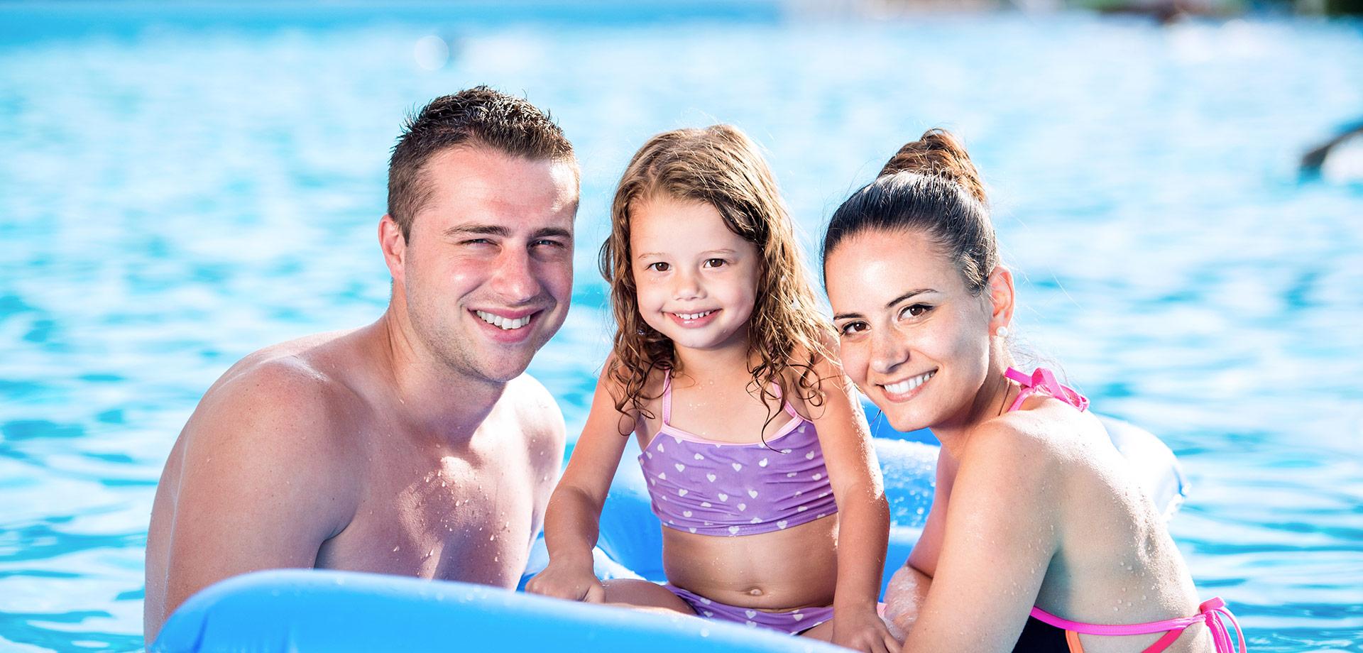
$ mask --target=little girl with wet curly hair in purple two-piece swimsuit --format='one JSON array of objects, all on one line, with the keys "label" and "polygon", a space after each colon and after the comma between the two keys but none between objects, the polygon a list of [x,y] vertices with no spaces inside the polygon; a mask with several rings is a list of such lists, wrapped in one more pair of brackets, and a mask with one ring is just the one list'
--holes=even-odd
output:
[{"label": "little girl with wet curly hair in purple two-piece swimsuit", "polygon": [[[728,125],[654,136],[611,222],[615,348],[549,499],[549,564],[526,589],[897,648],[876,613],[889,507],[875,454],[754,143]],[[662,586],[592,571],[630,432],[664,526]]]}]

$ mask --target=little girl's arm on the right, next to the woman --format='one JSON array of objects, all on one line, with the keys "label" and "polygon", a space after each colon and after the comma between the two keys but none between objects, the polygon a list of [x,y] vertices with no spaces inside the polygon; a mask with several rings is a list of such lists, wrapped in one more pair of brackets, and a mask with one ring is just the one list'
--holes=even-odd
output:
[{"label": "little girl's arm on the right, next to the woman", "polygon": [[823,401],[807,409],[819,434],[840,514],[833,643],[867,652],[894,650],[898,642],[876,612],[890,537],[890,504],[871,432],[841,367],[821,360],[815,371]]}]

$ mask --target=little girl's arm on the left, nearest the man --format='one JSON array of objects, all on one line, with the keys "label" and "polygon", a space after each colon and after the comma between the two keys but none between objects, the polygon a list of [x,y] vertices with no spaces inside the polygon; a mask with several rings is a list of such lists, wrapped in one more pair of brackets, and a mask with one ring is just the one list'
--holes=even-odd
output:
[{"label": "little girl's arm on the left, nearest the man", "polygon": [[615,408],[612,390],[617,384],[609,375],[613,364],[613,359],[607,359],[601,368],[587,423],[549,496],[544,515],[549,564],[526,582],[526,592],[574,601],[605,600],[605,589],[593,571],[592,548],[600,534],[601,506],[628,440],[628,435],[620,435],[620,427],[634,424]]}]

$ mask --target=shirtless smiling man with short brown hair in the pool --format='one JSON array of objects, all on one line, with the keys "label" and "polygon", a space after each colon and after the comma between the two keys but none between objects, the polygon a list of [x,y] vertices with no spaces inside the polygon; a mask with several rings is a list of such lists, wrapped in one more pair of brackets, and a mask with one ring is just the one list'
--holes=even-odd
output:
[{"label": "shirtless smiling man with short brown hair in the pool", "polygon": [[262,349],[176,440],[147,537],[147,642],[191,594],[319,567],[514,588],[563,458],[523,375],[568,309],[578,168],[487,87],[432,101],[393,151],[373,324]]}]

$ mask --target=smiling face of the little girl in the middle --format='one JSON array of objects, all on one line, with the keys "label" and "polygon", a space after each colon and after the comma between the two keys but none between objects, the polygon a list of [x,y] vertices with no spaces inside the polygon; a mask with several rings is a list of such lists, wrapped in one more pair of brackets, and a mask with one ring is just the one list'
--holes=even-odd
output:
[{"label": "smiling face of the little girl in the middle", "polygon": [[705,202],[665,196],[630,211],[639,314],[679,348],[747,345],[761,260]]}]

